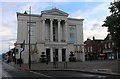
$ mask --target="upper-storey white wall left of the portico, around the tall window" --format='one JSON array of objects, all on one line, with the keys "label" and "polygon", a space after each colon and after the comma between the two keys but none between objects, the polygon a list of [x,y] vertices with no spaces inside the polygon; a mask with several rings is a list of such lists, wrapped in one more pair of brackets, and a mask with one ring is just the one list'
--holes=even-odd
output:
[{"label": "upper-storey white wall left of the portico, around the tall window", "polygon": [[[18,29],[17,29],[17,42],[22,43],[23,40],[28,43],[28,26],[29,24],[29,16],[24,14],[18,14],[17,17],[18,20]],[[31,16],[31,22],[35,22],[35,41],[40,42],[41,41],[41,18],[40,16]],[[31,23],[32,25],[32,23]]]}]

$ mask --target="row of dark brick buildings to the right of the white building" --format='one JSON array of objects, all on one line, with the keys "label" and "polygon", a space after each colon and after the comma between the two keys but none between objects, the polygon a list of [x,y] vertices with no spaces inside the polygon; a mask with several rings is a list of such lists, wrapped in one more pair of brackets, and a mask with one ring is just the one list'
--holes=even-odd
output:
[{"label": "row of dark brick buildings to the right of the white building", "polygon": [[86,60],[118,59],[118,51],[110,34],[103,40],[95,39],[95,37],[93,40],[87,39],[84,44]]}]

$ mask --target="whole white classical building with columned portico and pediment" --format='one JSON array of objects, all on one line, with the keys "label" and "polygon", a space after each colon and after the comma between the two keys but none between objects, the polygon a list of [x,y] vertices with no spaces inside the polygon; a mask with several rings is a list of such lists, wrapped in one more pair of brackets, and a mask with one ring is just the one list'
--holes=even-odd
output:
[{"label": "whole white classical building with columned portico and pediment", "polygon": [[[77,60],[84,61],[84,19],[69,18],[68,16],[68,13],[56,8],[41,11],[40,15],[30,15],[26,12],[17,13],[16,48],[20,52],[22,50],[20,44],[25,40],[25,50],[21,56],[24,63],[28,63],[29,57],[29,26],[31,61],[38,62],[41,52],[45,52],[46,58],[50,62],[53,62],[54,56],[59,62],[69,61],[71,51],[74,52]],[[17,58],[19,58],[19,53]]]}]

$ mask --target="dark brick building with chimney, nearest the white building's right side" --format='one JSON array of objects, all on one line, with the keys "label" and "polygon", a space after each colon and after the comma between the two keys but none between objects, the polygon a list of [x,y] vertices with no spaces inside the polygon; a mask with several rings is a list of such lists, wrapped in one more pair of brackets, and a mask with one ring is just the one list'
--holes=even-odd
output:
[{"label": "dark brick building with chimney, nearest the white building's right side", "polygon": [[101,39],[87,39],[84,44],[85,59],[86,60],[98,60],[99,55],[102,52],[103,40]]}]

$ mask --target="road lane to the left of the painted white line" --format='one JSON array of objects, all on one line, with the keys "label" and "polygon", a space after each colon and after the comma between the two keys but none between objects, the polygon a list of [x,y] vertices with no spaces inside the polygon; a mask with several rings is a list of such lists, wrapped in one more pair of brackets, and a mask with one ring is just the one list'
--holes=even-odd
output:
[{"label": "road lane to the left of the painted white line", "polygon": [[32,71],[17,69],[6,63],[2,64],[3,79],[52,79],[43,74],[36,74]]}]

